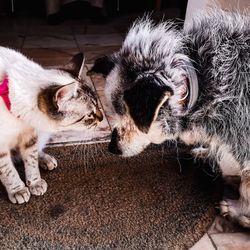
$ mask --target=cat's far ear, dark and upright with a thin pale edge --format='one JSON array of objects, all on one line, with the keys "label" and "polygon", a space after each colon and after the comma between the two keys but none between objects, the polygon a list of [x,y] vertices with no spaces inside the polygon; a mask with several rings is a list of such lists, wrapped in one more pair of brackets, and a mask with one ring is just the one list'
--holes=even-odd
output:
[{"label": "cat's far ear, dark and upright with a thin pale edge", "polygon": [[80,77],[82,69],[84,67],[84,61],[85,61],[84,54],[78,53],[74,55],[66,65],[60,67],[60,69],[78,78]]}]

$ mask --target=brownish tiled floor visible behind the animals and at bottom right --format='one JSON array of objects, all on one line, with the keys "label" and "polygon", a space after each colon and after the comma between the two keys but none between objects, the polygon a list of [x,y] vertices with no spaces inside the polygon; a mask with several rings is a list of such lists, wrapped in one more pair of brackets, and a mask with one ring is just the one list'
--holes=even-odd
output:
[{"label": "brownish tiled floor visible behind the animals and at bottom right", "polygon": [[[45,20],[24,18],[0,18],[0,45],[20,50],[34,61],[44,66],[66,63],[73,54],[82,51],[86,56],[86,70],[94,60],[110,54],[121,46],[126,27],[131,19],[122,17],[106,25],[96,25],[83,21],[67,21],[62,25],[48,26]],[[100,76],[87,78],[96,90],[105,119],[96,131],[89,133],[60,133],[55,135],[50,146],[71,143],[95,143],[106,141],[110,135],[111,117],[106,113],[104,80]],[[245,250],[250,249],[250,234],[217,217],[210,230],[197,242],[193,250]]]}]

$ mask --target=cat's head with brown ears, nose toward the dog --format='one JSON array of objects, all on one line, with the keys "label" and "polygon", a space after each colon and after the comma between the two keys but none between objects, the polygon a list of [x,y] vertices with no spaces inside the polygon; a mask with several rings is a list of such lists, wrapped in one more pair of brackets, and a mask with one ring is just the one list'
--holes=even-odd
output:
[{"label": "cat's head with brown ears, nose toward the dog", "polygon": [[84,56],[80,53],[65,66],[50,70],[55,82],[38,95],[38,108],[56,124],[57,130],[91,128],[103,119],[93,89],[80,77],[83,65]]}]

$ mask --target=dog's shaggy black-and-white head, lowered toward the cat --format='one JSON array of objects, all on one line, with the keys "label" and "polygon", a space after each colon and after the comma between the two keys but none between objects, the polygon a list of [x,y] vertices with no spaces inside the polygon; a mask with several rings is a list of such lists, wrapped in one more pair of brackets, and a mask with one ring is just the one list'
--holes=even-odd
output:
[{"label": "dog's shaggy black-and-white head, lowered toward the cat", "polygon": [[138,21],[121,50],[98,59],[90,71],[106,77],[115,121],[112,153],[132,156],[150,143],[178,136],[181,117],[194,105],[198,90],[183,39],[170,24]]}]

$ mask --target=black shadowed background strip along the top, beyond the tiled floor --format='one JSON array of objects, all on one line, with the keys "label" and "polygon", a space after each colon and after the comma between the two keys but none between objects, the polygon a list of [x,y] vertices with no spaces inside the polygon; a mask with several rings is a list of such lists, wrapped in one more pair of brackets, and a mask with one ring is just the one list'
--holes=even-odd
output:
[{"label": "black shadowed background strip along the top, beyond the tiled floor", "polygon": [[[25,15],[46,18],[49,24],[69,19],[91,19],[103,22],[111,17],[144,11],[178,9],[171,18],[184,19],[187,0],[2,0],[2,15]],[[169,11],[168,11],[169,12]],[[169,13],[167,13],[169,14]]]}]

